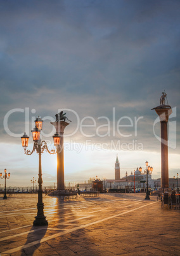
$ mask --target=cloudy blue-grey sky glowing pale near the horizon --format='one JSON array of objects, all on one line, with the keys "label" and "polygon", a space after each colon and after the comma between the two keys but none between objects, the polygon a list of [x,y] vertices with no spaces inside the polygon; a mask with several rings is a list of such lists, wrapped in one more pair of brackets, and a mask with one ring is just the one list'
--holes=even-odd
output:
[{"label": "cloudy blue-grey sky glowing pale near the horizon", "polygon": [[[0,167],[9,185],[37,178],[38,155],[23,153],[20,136],[30,135],[31,149],[39,115],[52,143],[49,122],[60,110],[72,120],[66,181],[114,178],[117,153],[121,177],[148,160],[160,178],[151,108],[164,90],[173,110],[169,176],[179,172],[179,11],[179,0],[0,0]],[[44,185],[56,182],[55,155],[43,153],[42,173]]]}]

